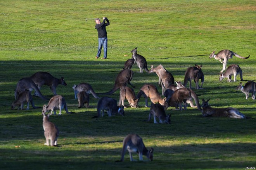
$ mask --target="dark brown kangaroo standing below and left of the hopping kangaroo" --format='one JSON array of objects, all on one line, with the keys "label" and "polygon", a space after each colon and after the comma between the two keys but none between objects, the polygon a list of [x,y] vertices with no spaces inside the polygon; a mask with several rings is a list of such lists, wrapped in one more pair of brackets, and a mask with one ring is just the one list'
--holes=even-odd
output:
[{"label": "dark brown kangaroo standing below and left of the hopping kangaroo", "polygon": [[[199,79],[201,79],[201,87],[199,87]],[[184,77],[183,85],[186,87],[187,82],[189,81],[189,88],[192,89],[191,80],[195,82],[195,89],[202,89],[202,85],[204,83],[204,73],[202,72],[202,65],[195,65],[193,67],[187,68]]]}]

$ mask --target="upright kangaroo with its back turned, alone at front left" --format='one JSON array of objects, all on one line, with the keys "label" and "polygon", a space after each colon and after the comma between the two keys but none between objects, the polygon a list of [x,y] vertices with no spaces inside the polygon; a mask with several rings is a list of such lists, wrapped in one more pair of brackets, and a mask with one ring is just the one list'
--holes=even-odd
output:
[{"label": "upright kangaroo with its back turned, alone at front left", "polygon": [[[49,114],[45,115],[44,112],[42,112],[43,115],[43,130],[45,131],[45,139],[46,143],[44,145],[51,145],[51,146],[57,146],[57,139],[59,137],[59,129],[57,126],[55,126],[54,123],[49,121]],[[49,143],[50,140],[50,143]]]}]

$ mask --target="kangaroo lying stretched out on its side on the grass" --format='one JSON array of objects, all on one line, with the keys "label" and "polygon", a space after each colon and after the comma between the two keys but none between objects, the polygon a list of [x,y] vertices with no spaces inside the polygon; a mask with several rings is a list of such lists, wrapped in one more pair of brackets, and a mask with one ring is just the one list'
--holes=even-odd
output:
[{"label": "kangaroo lying stretched out on its side on the grass", "polygon": [[202,99],[202,116],[204,117],[232,117],[237,119],[246,119],[246,116],[233,107],[213,108],[208,104],[208,100]]}]

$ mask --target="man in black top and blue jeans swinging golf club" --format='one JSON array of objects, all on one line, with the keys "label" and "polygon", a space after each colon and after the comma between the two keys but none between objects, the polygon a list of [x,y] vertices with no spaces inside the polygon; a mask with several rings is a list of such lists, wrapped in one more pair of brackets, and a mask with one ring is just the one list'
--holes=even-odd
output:
[{"label": "man in black top and blue jeans swinging golf club", "polygon": [[[102,59],[107,59],[107,31],[106,26],[109,26],[109,20],[106,17],[102,18],[102,23],[100,22],[100,19],[95,19],[96,25],[95,29],[98,31],[98,40],[99,40],[99,47],[98,47],[98,53],[95,58],[100,57],[102,46],[104,48],[104,57]],[[105,23],[107,21],[107,23]]]}]

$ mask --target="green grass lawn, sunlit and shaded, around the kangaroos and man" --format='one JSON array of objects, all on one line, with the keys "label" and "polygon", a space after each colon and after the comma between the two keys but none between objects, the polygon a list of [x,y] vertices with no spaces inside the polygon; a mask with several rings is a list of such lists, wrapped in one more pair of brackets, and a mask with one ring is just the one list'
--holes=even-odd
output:
[{"label": "green grass lawn, sunlit and shaded, around the kangaroos and man", "polygon": [[[142,1],[14,1],[0,2],[0,169],[245,169],[256,166],[256,104],[236,91],[240,83],[218,81],[220,61],[209,59],[212,51],[230,49],[246,60],[239,64],[245,80],[256,81],[255,0],[142,0]],[[97,53],[94,20],[108,17],[108,58]],[[97,99],[90,95],[90,108],[77,109],[74,84],[90,83],[95,92],[107,92],[131,49],[150,65],[162,64],[175,80],[183,82],[186,68],[203,65],[204,90],[194,90],[200,102],[211,99],[212,107],[235,107],[254,119],[204,118],[197,109],[171,114],[171,124],[144,122],[149,108],[125,109],[116,115],[91,119]],[[128,56],[125,56],[128,55]],[[132,68],[139,71],[137,65]],[[76,112],[50,116],[59,130],[60,147],[43,145],[41,109],[11,110],[17,82],[37,71],[64,76],[59,85],[68,109]],[[232,80],[234,78],[232,77]],[[237,76],[237,80],[240,77]],[[135,93],[144,83],[157,85],[156,74],[135,73]],[[246,83],[242,82],[243,84]],[[195,87],[194,83],[192,87]],[[158,87],[159,92],[161,88]],[[43,95],[52,97],[43,86]],[[251,94],[250,94],[251,95]],[[119,100],[119,90],[111,97]],[[47,101],[33,97],[35,105]],[[127,101],[126,101],[126,104]],[[154,148],[154,161],[115,163],[121,157],[123,138],[137,133],[146,147]],[[138,160],[138,156],[133,156]]]}]

